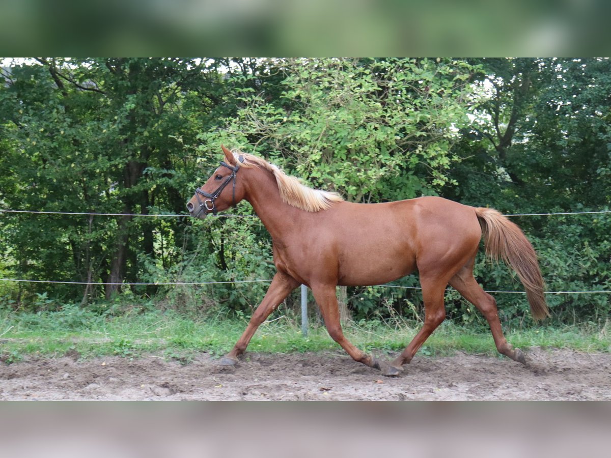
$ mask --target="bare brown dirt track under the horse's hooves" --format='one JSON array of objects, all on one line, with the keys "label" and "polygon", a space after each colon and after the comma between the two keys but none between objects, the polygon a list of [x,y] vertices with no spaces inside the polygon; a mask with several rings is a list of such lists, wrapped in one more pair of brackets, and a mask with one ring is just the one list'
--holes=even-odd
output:
[{"label": "bare brown dirt track under the horse's hooves", "polygon": [[188,365],[140,358],[0,364],[0,400],[567,401],[611,400],[611,354],[529,349],[529,364],[456,354],[416,356],[388,378],[338,352],[249,353],[235,368],[201,354]]}]

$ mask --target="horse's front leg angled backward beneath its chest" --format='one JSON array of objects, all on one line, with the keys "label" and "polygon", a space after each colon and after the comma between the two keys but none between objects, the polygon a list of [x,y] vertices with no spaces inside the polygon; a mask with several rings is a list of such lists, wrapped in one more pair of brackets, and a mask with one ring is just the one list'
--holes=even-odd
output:
[{"label": "horse's front leg angled backward beneath its chest", "polygon": [[343,335],[342,325],[340,324],[340,312],[337,306],[335,285],[312,285],[312,293],[323,315],[324,325],[326,325],[331,338],[340,344],[353,360],[370,366],[371,368],[380,369],[379,362],[376,358],[360,351]]}]

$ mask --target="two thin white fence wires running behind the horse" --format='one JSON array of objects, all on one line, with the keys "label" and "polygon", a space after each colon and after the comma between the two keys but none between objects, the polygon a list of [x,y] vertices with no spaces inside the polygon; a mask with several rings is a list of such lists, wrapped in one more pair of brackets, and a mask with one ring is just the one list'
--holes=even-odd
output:
[{"label": "two thin white fence wires running behind the horse", "polygon": [[[132,216],[132,217],[189,217],[189,214],[126,214],[126,213],[90,213],[90,212],[68,212],[68,211],[35,211],[35,210],[13,210],[13,209],[0,209],[2,213],[31,213],[31,214],[57,214],[57,215],[81,215],[81,216]],[[611,213],[611,210],[599,210],[599,211],[575,211],[575,212],[557,212],[557,213],[511,213],[505,214],[505,216],[572,216],[572,215],[584,215],[584,214],[604,214]],[[214,215],[214,218],[219,217],[233,217],[233,218],[257,218],[257,215],[233,215],[233,214],[222,214]],[[179,286],[179,285],[227,285],[227,284],[240,284],[240,283],[270,283],[272,280],[232,280],[225,282],[155,282],[155,283],[101,283],[101,282],[70,282],[70,281],[59,281],[59,280],[23,280],[21,278],[0,278],[0,282],[22,282],[22,283],[59,283],[64,285],[93,285],[93,286],[104,286],[104,285],[120,285],[120,286]],[[373,285],[373,286],[384,286],[386,288],[401,288],[401,289],[422,289],[419,286],[400,286],[400,285]],[[454,291],[452,288],[448,288],[447,291]],[[505,294],[525,294],[524,291],[486,291],[486,293],[505,293]],[[544,294],[611,294],[611,291],[545,291]]]}]

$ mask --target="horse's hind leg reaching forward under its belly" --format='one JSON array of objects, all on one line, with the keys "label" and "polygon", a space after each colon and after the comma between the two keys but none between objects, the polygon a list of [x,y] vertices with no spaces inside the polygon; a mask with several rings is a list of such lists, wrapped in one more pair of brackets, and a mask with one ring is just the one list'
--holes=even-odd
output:
[{"label": "horse's hind leg reaching forward under its belly", "polygon": [[445,319],[444,294],[445,283],[442,280],[422,278],[422,299],[425,307],[424,324],[420,332],[415,335],[404,351],[392,362],[390,366],[384,369],[385,376],[396,376],[403,371],[403,365],[411,362],[412,358],[425,343],[428,336],[441,324]]}]

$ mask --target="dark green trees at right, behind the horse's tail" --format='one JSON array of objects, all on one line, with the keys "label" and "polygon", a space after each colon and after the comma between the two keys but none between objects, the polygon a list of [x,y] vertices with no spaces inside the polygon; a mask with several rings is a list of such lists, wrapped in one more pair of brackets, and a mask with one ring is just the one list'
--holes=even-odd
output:
[{"label": "dark green trees at right, behind the horse's tail", "polygon": [[[442,194],[505,213],[607,209],[609,59],[475,59],[472,64],[484,70],[479,82],[484,98],[474,111],[474,125],[455,145],[455,154],[464,158],[450,174],[457,185]],[[516,222],[538,250],[551,291],[591,291],[611,284],[611,252],[602,229],[609,222],[606,215]],[[483,263],[477,270],[483,283],[514,289],[507,272]],[[513,298],[497,300],[501,313],[521,316]],[[573,320],[574,312],[599,318],[610,309],[604,294],[548,300],[560,320]]]}]

